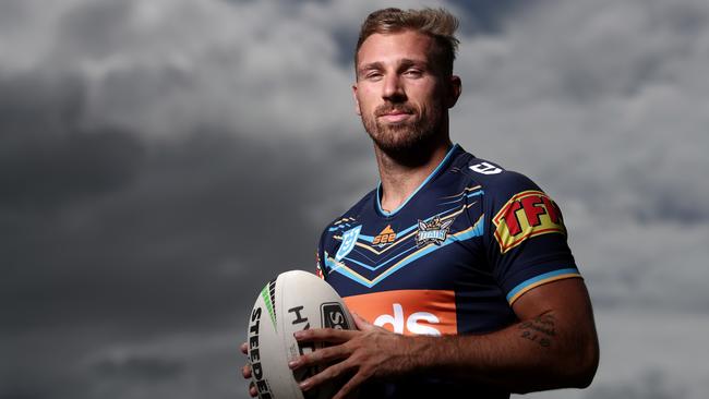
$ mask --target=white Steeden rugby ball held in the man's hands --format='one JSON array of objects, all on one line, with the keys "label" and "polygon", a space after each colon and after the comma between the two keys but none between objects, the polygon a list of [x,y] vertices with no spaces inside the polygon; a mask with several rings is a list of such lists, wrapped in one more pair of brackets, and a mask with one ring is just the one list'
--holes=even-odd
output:
[{"label": "white Steeden rugby ball held in the man's hands", "polygon": [[321,367],[292,371],[288,362],[322,348],[298,344],[293,332],[308,328],[353,329],[345,302],[327,282],[302,271],[286,271],[263,288],[249,316],[248,360],[261,399],[331,398],[338,386],[315,388],[303,395],[298,383]]}]

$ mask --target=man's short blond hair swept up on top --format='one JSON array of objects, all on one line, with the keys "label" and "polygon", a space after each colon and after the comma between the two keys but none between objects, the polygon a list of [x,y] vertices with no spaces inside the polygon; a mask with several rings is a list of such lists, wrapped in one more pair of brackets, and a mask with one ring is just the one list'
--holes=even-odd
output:
[{"label": "man's short blond hair swept up on top", "polygon": [[410,29],[429,35],[435,40],[435,53],[431,56],[443,66],[444,74],[449,76],[453,74],[453,61],[460,43],[455,37],[457,28],[458,19],[444,9],[402,11],[389,8],[374,11],[364,20],[360,29],[354,49],[354,69],[357,69],[357,55],[368,37],[373,34],[392,34]]}]

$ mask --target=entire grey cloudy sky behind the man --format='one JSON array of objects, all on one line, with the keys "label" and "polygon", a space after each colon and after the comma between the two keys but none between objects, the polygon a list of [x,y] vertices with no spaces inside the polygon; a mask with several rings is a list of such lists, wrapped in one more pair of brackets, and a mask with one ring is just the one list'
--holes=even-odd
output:
[{"label": "entire grey cloudy sky behind the man", "polygon": [[[593,385],[709,396],[706,0],[388,2],[461,20],[453,137],[562,206]],[[245,314],[377,181],[382,2],[0,2],[0,398],[243,398]]]}]

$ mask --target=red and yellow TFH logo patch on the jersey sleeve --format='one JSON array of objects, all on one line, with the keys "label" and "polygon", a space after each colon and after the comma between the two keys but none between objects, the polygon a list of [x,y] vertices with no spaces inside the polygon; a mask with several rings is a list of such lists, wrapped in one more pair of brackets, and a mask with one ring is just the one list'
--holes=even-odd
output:
[{"label": "red and yellow TFH logo patch on the jersey sleeve", "polygon": [[549,233],[566,234],[556,203],[541,191],[524,191],[507,201],[492,219],[504,254],[525,240]]}]

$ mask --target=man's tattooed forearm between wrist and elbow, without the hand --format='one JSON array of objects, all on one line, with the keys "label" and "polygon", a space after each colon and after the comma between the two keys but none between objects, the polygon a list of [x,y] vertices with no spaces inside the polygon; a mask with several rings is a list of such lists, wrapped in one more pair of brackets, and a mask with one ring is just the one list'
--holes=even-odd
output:
[{"label": "man's tattooed forearm between wrist and elbow, without the hand", "polygon": [[516,392],[586,387],[596,372],[598,347],[594,334],[573,322],[550,311],[486,335],[414,337],[411,352],[426,375]]}]

